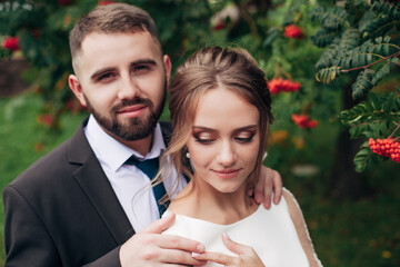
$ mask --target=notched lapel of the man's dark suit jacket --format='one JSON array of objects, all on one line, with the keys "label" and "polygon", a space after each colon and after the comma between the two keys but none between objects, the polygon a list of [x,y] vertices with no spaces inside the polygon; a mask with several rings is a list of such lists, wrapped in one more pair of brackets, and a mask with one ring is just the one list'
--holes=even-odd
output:
[{"label": "notched lapel of the man's dark suit jacket", "polygon": [[134,230],[129,222],[106,174],[83,134],[87,120],[74,134],[69,147],[69,160],[81,165],[73,174],[74,179],[97,210],[116,241],[121,245]]}]

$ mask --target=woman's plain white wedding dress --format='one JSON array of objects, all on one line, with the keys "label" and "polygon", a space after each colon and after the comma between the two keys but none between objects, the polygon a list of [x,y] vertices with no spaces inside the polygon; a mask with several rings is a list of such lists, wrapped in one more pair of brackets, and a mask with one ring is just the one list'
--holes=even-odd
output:
[{"label": "woman's plain white wedding dress", "polygon": [[[163,216],[168,212],[171,211],[167,210]],[[223,245],[223,233],[228,234],[233,241],[251,246],[267,267],[310,266],[283,197],[270,209],[264,209],[260,205],[252,215],[231,225],[213,224],[177,214],[172,226],[162,234],[200,241],[206,246],[207,251],[237,256]],[[321,266],[320,263],[318,264]],[[206,266],[221,265],[208,263]]]}]

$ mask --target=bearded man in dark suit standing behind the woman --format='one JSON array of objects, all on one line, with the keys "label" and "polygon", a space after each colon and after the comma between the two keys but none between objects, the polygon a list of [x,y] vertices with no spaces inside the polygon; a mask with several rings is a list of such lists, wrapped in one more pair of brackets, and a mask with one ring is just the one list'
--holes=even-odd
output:
[{"label": "bearded man in dark suit standing behind the woman", "polygon": [[[203,265],[191,257],[204,251],[201,244],[159,235],[174,217],[159,220],[156,190],[146,190],[149,177],[138,167],[168,141],[158,119],[171,62],[152,19],[128,4],[98,7],[73,28],[70,48],[69,85],[91,116],[4,189],[6,266]],[[274,200],[281,195],[273,174],[260,178],[267,201],[270,184]],[[187,182],[179,181],[178,190]],[[259,189],[256,198],[263,200]]]}]

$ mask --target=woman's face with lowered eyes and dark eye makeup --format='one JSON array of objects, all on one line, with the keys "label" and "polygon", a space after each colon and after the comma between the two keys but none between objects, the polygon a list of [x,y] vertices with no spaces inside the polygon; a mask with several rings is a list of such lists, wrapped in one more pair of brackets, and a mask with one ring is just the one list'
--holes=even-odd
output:
[{"label": "woman's face with lowered eyes and dark eye makeup", "polygon": [[196,182],[220,192],[246,188],[260,149],[259,111],[232,90],[208,90],[188,140]]}]

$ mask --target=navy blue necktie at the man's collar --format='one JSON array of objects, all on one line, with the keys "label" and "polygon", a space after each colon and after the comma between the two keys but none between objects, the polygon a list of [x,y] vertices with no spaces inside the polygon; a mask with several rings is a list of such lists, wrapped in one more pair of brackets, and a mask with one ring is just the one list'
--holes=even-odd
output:
[{"label": "navy blue necktie at the man's collar", "polygon": [[[139,160],[134,156],[131,156],[127,161],[124,162],[127,165],[134,165],[138,169],[143,171],[143,174],[151,180],[157,175],[157,171],[159,169],[159,158],[153,159],[146,159],[146,160]],[[158,184],[157,186],[152,187],[154,197],[157,200],[157,206],[161,215],[167,210],[168,205],[170,204],[170,200],[166,201],[164,204],[160,204],[160,199],[167,195],[166,188],[163,186],[163,182]]]}]

